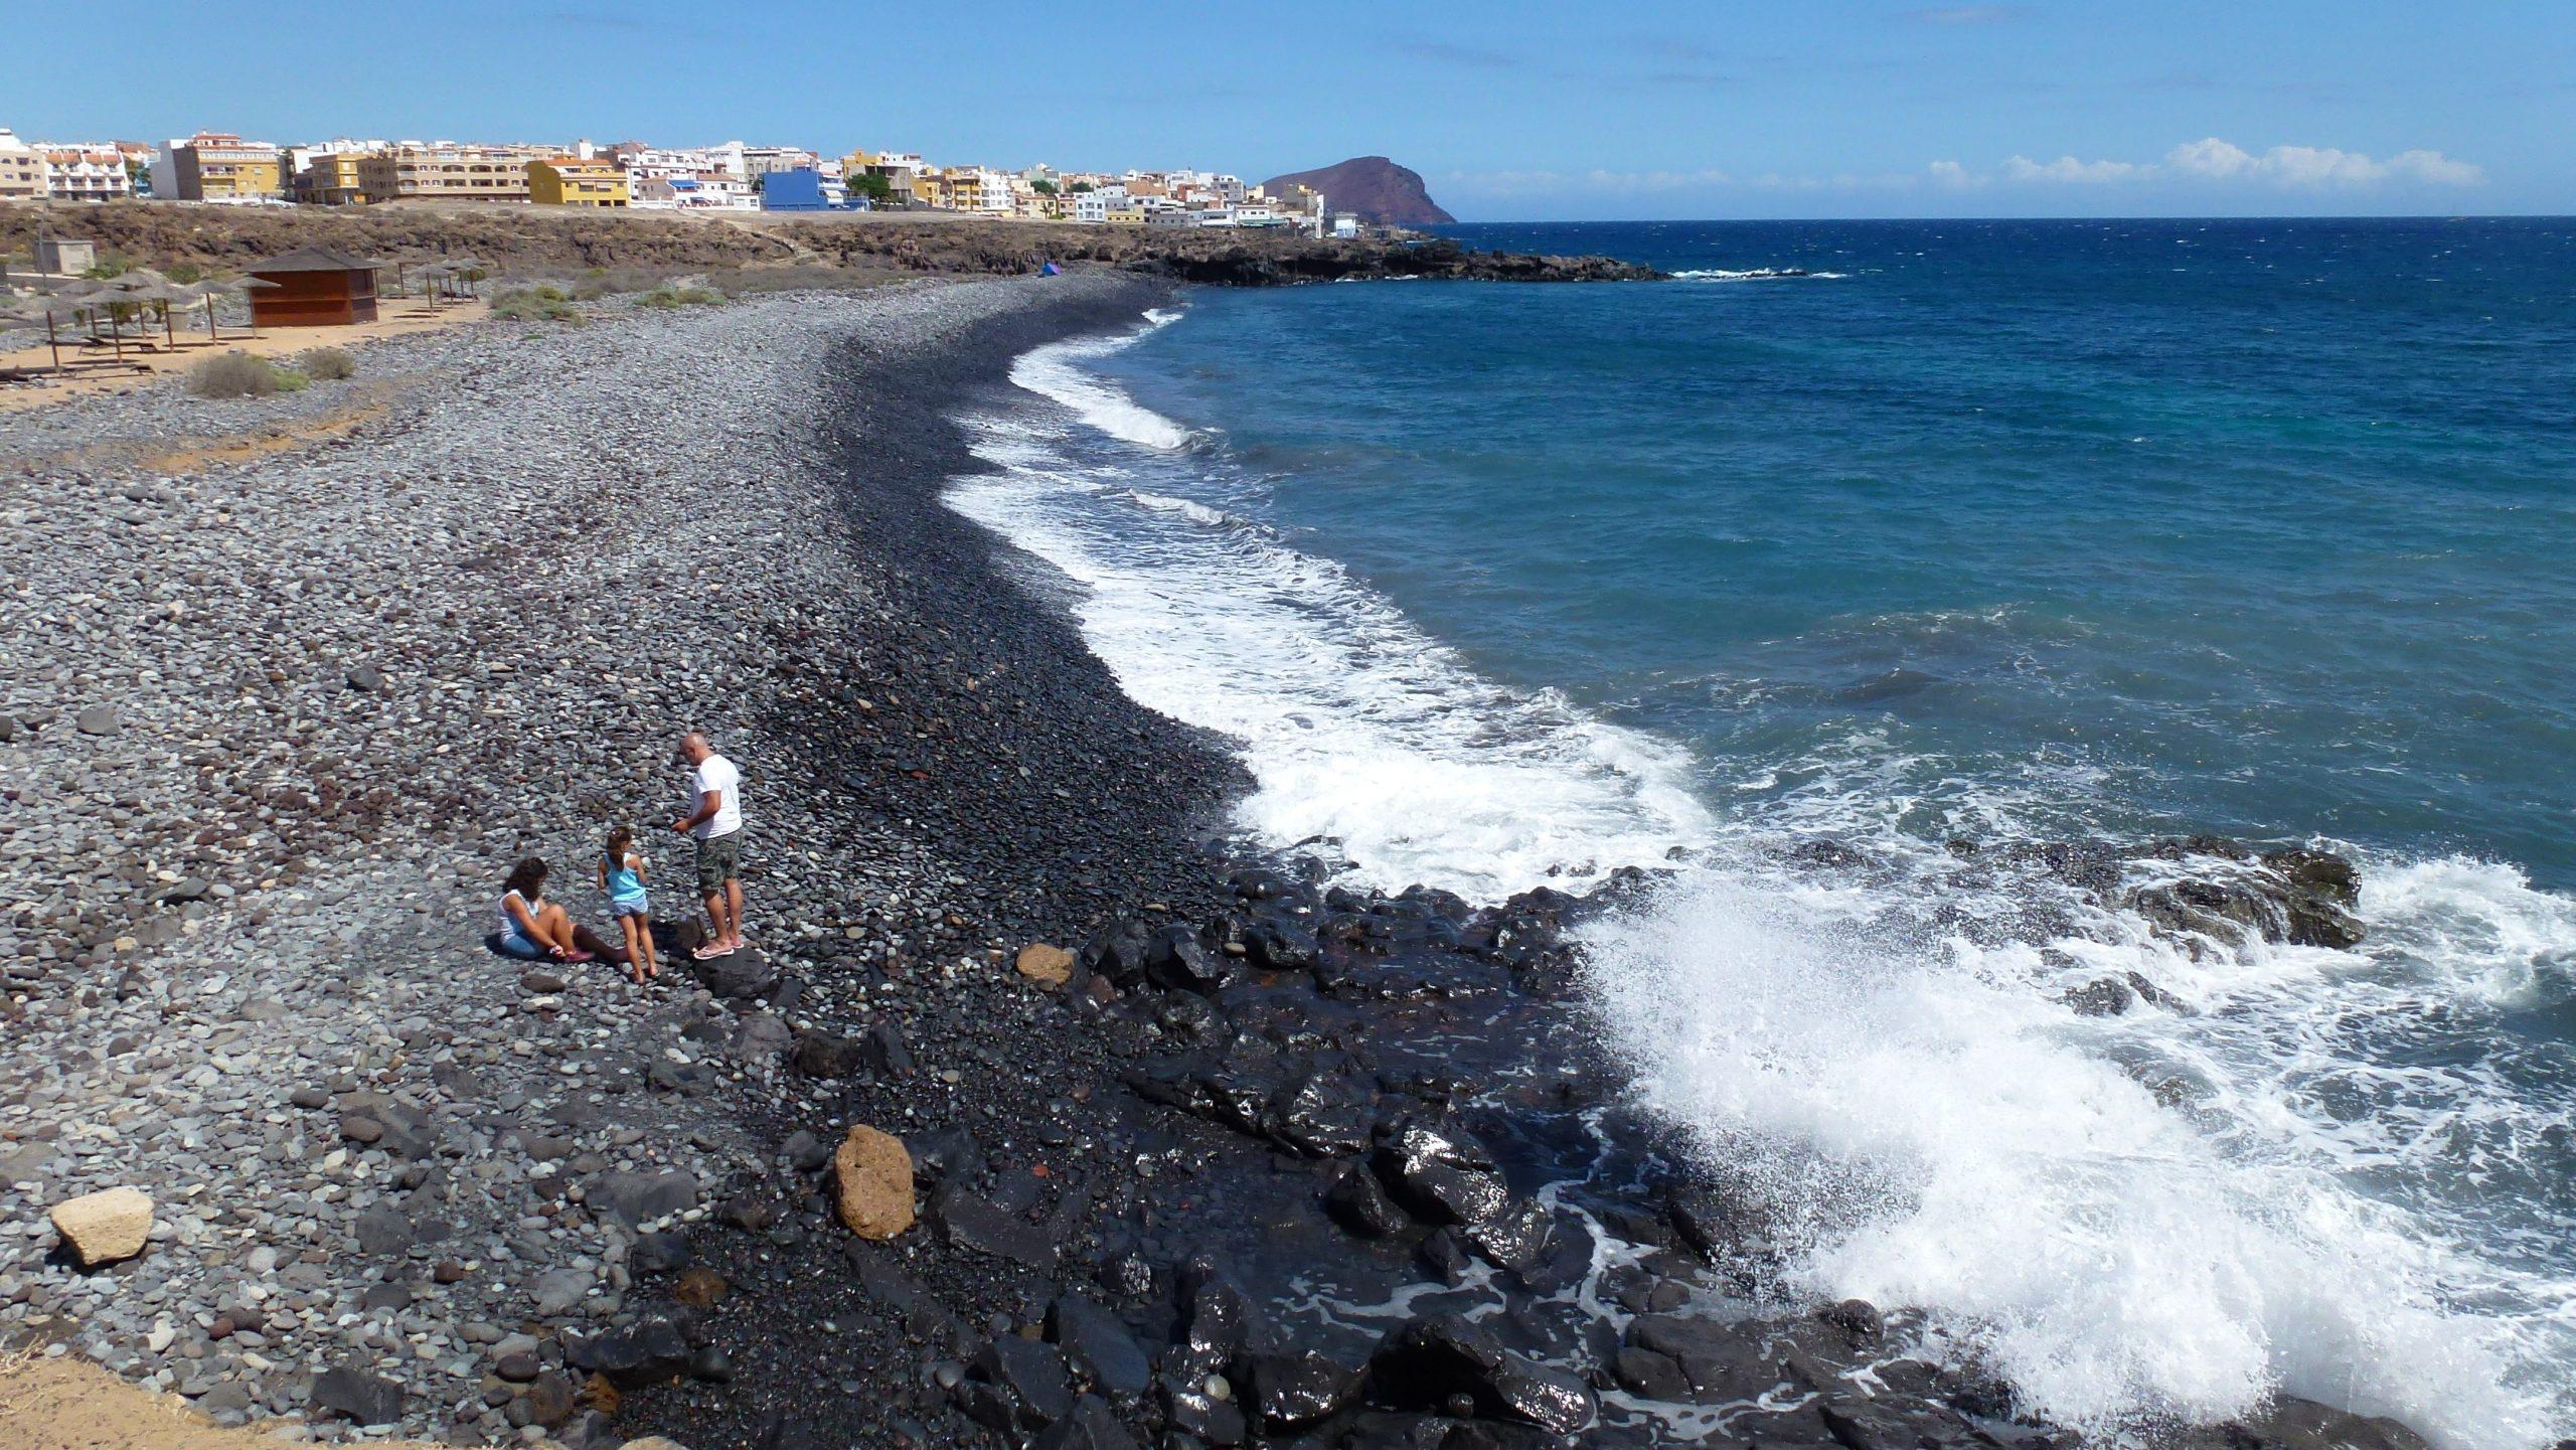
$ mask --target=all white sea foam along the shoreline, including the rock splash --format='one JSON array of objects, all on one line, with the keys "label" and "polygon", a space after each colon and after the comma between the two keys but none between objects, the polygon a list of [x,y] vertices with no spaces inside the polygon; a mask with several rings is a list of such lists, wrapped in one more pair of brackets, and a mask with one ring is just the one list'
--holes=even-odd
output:
[{"label": "all white sea foam along the shoreline, including the rock splash", "polygon": [[[956,507],[1082,585],[1128,693],[1242,744],[1262,840],[1340,837],[1368,881],[1468,896],[1692,847],[1600,927],[1595,997],[1646,1097],[1795,1213],[1798,1288],[1924,1306],[2032,1406],[2115,1440],[2269,1393],[2455,1450],[2576,1432],[2576,1283],[2553,1270],[2576,1221],[2524,1182],[2576,1123],[2501,1046],[2424,1051],[2447,1012],[2563,999],[2576,904],[2504,865],[2370,860],[2362,953],[2195,956],[2099,909],[2056,943],[1968,945],[1935,907],[1999,917],[2045,883],[1963,896],[1935,883],[1937,842],[2063,832],[2097,767],[1963,791],[1857,731],[1741,762],[1721,822],[1682,749],[1481,680],[1337,564],[1203,502],[1226,494],[1177,469],[1218,461],[1172,456],[1190,433],[1087,373],[1097,348],[1023,361],[1072,412],[971,420],[997,471]],[[1084,428],[1141,451],[1084,451]],[[1765,850],[1814,834],[1888,868],[1834,883]],[[2125,974],[2174,1007],[2063,1004]]]}]

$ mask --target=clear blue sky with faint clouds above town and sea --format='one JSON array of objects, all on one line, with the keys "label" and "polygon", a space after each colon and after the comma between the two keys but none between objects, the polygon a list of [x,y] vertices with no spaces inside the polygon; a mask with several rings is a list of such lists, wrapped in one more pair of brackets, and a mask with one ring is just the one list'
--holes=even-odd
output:
[{"label": "clear blue sky with faint clouds above town and sea", "polygon": [[13,67],[0,126],[1247,178],[1383,152],[1463,219],[2576,211],[2568,0],[255,10],[178,44],[198,5],[93,3],[149,44]]}]

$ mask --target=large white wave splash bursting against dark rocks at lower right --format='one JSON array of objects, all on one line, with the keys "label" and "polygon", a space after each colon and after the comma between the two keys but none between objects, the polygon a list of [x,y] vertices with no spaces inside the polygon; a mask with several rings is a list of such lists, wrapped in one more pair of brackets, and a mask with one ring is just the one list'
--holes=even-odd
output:
[{"label": "large white wave splash bursting against dark rocks at lower right", "polygon": [[[2264,1051],[2285,1022],[2213,1040],[2200,1015],[2076,1017],[2030,948],[1906,945],[1868,894],[1754,881],[1705,871],[1605,925],[1592,981],[1649,1100],[1801,1218],[1803,1288],[1929,1306],[2097,1435],[2275,1391],[2442,1445],[2555,1435],[2563,1326],[2452,1308],[2501,1293],[2543,1313],[2550,1285],[2354,1192],[2295,1087],[2313,1064]],[[2089,956],[2166,981],[2182,963]],[[2293,956],[2311,984],[2334,971],[2336,953]],[[2285,1002],[2213,1007],[2259,997]]]}]

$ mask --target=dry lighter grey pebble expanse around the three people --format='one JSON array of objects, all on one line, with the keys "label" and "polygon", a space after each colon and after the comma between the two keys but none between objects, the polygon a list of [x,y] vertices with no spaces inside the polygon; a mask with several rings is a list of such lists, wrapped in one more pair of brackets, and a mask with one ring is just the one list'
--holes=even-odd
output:
[{"label": "dry lighter grey pebble expanse around the three people", "polygon": [[[1172,762],[1025,737],[987,765],[1023,809],[953,819],[989,780],[935,773],[989,726],[948,716],[1121,703],[997,675],[971,618],[943,631],[902,598],[963,579],[889,587],[886,520],[881,551],[827,525],[845,461],[935,489],[938,394],[819,404],[827,368],[935,389],[997,319],[1131,286],[1051,281],[407,337],[363,353],[381,415],[247,466],[167,469],[167,443],[327,417],[361,384],[0,417],[0,1334],[219,1422],[304,1417],[348,1370],[319,1393],[376,1396],[355,1422],[562,1424],[569,1380],[518,1373],[528,1329],[616,1319],[639,1254],[765,1169],[744,1107],[778,1079],[799,976],[891,971],[891,1020],[1082,912],[1079,883],[987,894],[992,863]],[[142,453],[165,471],[113,464]],[[824,659],[881,729],[817,749]],[[683,729],[747,765],[760,1004],[685,956],[652,986],[489,956],[497,881],[531,852],[616,935],[590,886],[611,819],[644,837],[659,914],[693,912],[659,829]],[[842,757],[873,742],[894,757]],[[1154,829],[1095,832],[1092,886]],[[925,1053],[917,1092],[994,1087],[958,1066]],[[44,1208],[103,1187],[152,1195],[152,1249],[82,1270]]]}]

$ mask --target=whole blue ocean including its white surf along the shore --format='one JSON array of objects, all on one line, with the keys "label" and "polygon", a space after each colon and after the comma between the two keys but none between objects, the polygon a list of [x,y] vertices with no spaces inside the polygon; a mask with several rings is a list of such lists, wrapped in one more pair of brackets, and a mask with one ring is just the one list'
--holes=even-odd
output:
[{"label": "whole blue ocean including its white surf along the shore", "polygon": [[[1793,1293],[2115,1440],[2576,1435],[2576,224],[1455,234],[1680,281],[1195,291],[1020,358],[951,502],[1249,840],[1672,868],[1589,1010]],[[1955,871],[2195,832],[2352,855],[2367,940]]]}]

